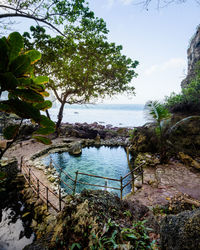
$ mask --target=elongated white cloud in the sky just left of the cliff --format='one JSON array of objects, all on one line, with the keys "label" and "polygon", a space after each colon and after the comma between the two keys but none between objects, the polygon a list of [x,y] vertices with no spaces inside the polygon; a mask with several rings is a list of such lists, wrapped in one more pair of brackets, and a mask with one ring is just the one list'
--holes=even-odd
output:
[{"label": "elongated white cloud in the sky just left of the cliff", "polygon": [[185,67],[185,65],[186,65],[186,61],[183,58],[171,58],[168,61],[163,62],[161,64],[152,65],[150,68],[148,68],[145,71],[145,74],[151,75],[151,74],[166,71],[169,69]]}]

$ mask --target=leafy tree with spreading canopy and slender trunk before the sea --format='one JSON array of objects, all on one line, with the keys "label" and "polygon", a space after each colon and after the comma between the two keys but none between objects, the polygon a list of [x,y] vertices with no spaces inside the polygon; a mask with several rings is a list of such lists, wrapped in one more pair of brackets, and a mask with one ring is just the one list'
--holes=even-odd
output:
[{"label": "leafy tree with spreading canopy and slender trunk before the sea", "polygon": [[29,48],[37,48],[43,54],[38,72],[49,76],[48,87],[60,102],[57,131],[60,127],[66,103],[89,103],[97,98],[118,93],[134,93],[130,84],[137,61],[122,55],[122,46],[108,43],[104,22],[70,27],[71,35],[51,38],[41,27],[32,27],[32,37],[25,33]]}]

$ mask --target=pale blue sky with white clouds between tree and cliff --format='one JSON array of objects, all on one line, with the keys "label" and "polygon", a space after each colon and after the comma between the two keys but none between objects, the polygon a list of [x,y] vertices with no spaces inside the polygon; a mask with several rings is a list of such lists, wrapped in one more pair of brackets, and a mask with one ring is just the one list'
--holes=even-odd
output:
[{"label": "pale blue sky with white clouds between tree and cliff", "polygon": [[[109,41],[122,45],[123,54],[139,61],[138,77],[131,83],[136,95],[104,99],[104,103],[163,101],[170,93],[181,91],[187,74],[187,48],[200,24],[200,5],[187,0],[159,9],[151,5],[146,10],[136,1],[89,0],[90,9],[107,24]],[[29,20],[23,20],[18,29],[23,33],[30,25]]]}]

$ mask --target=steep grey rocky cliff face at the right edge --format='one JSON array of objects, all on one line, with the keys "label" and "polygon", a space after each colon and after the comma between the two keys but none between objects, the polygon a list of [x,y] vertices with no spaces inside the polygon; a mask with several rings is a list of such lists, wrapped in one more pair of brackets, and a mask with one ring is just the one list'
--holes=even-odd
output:
[{"label": "steep grey rocky cliff face at the right edge", "polygon": [[188,73],[186,78],[181,82],[182,88],[186,87],[190,80],[195,76],[195,64],[200,60],[200,25],[198,26],[196,34],[190,42],[190,47],[187,50],[187,58]]}]

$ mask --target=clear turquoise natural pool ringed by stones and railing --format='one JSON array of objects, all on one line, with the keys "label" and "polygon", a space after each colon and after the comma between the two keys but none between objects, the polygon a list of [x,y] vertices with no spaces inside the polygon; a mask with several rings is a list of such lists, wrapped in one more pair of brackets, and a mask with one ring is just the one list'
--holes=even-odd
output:
[{"label": "clear turquoise natural pool ringed by stones and railing", "polygon": [[[52,153],[43,159],[46,165],[50,164],[50,161],[55,163],[55,166],[59,166],[67,172],[73,179],[75,179],[75,172],[83,172],[91,175],[98,175],[103,177],[109,177],[112,179],[120,179],[130,172],[126,151],[123,147],[106,147],[101,146],[99,148],[89,147],[83,148],[82,154],[79,156],[72,156],[68,152],[64,153]],[[58,170],[58,169],[57,169]],[[72,181],[61,173],[61,178],[69,185],[73,186]],[[130,181],[130,176],[123,181],[125,185]],[[101,178],[94,178],[86,175],[78,175],[79,182],[87,182],[95,185],[105,185],[105,180]],[[120,188],[120,182],[118,181],[107,181],[107,186]],[[62,188],[69,190],[65,185],[61,184]],[[104,189],[91,185],[84,185],[81,183],[77,184],[76,192],[80,193],[83,189]],[[120,191],[107,188],[108,191],[116,192],[118,195]],[[131,185],[128,185],[123,190],[123,195],[131,192]]]}]

